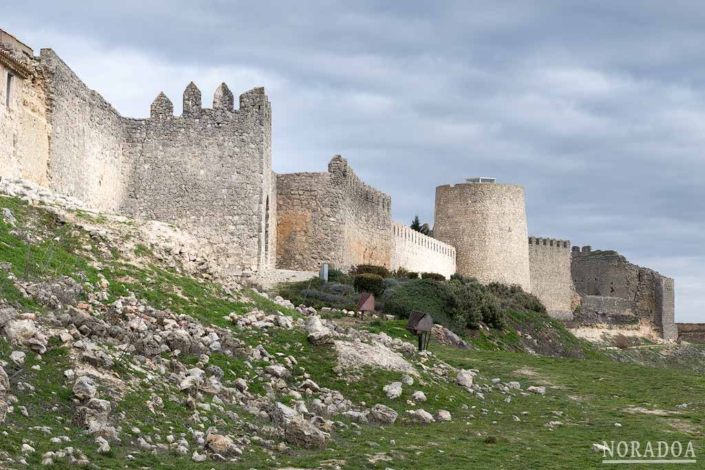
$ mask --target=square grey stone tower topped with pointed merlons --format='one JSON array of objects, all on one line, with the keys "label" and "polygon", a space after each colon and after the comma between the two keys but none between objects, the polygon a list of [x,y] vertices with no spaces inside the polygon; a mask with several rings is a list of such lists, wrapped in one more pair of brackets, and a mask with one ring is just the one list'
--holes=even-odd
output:
[{"label": "square grey stone tower topped with pointed merlons", "polygon": [[276,194],[271,107],[263,88],[240,95],[223,84],[203,109],[191,83],[183,114],[164,94],[149,119],[128,121],[133,161],[122,211],[185,228],[214,247],[227,274],[274,267]]}]

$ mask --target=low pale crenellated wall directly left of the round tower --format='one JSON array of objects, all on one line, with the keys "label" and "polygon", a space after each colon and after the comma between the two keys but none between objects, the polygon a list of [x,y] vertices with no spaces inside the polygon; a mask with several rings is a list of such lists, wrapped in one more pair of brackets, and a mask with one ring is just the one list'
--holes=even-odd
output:
[{"label": "low pale crenellated wall directly left of the round tower", "polygon": [[439,273],[450,278],[455,273],[455,248],[433,237],[392,221],[391,268],[417,273]]}]

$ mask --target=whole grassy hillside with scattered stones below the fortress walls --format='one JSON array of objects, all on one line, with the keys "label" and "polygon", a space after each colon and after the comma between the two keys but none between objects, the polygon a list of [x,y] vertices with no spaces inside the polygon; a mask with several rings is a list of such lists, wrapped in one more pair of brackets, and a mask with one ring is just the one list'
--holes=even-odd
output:
[{"label": "whole grassy hillside with scattered stones below the fortress walls", "polygon": [[[703,376],[587,354],[582,342],[544,316],[516,312],[504,332],[481,330],[472,338],[474,350],[431,342],[430,356],[403,354],[418,376],[414,385],[403,387],[400,397],[390,399],[382,388],[400,380],[401,373],[375,367],[346,373],[339,368],[333,346],[312,344],[300,324],[293,329],[242,326],[235,320],[255,310],[263,315],[283,314],[293,322],[303,321],[304,316],[252,290],[226,290],[166,266],[155,247],[121,240],[131,236],[121,235],[132,233],[129,222],[121,231],[117,230],[120,222],[111,218],[68,214],[76,222],[90,219],[116,229],[101,235],[16,198],[0,197],[0,207],[10,209],[17,219],[16,227],[7,220],[0,222],[0,260],[11,263],[4,265],[9,272],[0,271],[0,308],[13,307],[17,318],[35,313],[37,328],[49,336],[47,351],[41,355],[27,344],[0,340],[1,364],[10,384],[5,399],[13,407],[0,432],[0,467],[73,469],[79,461],[99,469],[589,469],[604,468],[602,454],[591,450],[593,443],[603,440],[691,440],[698,455],[705,452]],[[46,289],[41,286],[73,285],[62,276],[82,287],[75,298],[63,287],[52,290],[61,294],[54,298],[43,295]],[[128,306],[131,295],[140,302]],[[127,306],[123,316],[115,306],[118,300]],[[85,328],[74,332],[61,320],[66,313],[121,326],[125,335],[114,338]],[[157,320],[152,323],[152,318]],[[202,354],[176,354],[174,347],[149,355],[149,343],[130,330],[142,328],[142,323],[130,323],[137,319],[155,334],[166,335],[164,319],[183,321],[190,328],[210,328],[223,347],[208,352],[207,362]],[[339,319],[339,323],[414,342],[403,321]],[[71,340],[61,338],[65,331],[74,333]],[[545,337],[551,331],[552,341],[563,342],[562,350],[586,351],[585,359],[547,357],[541,353],[552,352],[540,349],[537,354],[525,354],[534,344],[527,334]],[[351,334],[341,338],[350,340]],[[101,359],[95,365],[87,359],[87,342],[97,345],[111,361]],[[137,349],[123,352],[125,344]],[[271,354],[269,361],[253,356],[253,348],[259,345]],[[23,364],[11,360],[13,351],[25,352]],[[290,376],[283,379],[284,388],[267,397],[269,384],[280,383],[265,371],[271,364],[285,365]],[[195,366],[207,369],[209,378],[219,376],[217,369],[208,369],[217,366],[223,390],[180,390],[176,374]],[[455,384],[453,368],[479,370],[474,382],[484,390],[484,398]],[[65,373],[69,369],[75,376],[94,378],[97,397],[111,404],[109,421],[116,426],[119,440],[109,440],[109,452],[99,452],[96,435],[87,433],[77,418],[82,403],[72,391],[75,378]],[[381,426],[336,414],[321,424],[331,434],[324,447],[289,443],[253,404],[280,402],[295,407],[298,391],[300,401],[313,409],[315,398],[327,392],[302,392],[305,378],[338,392],[354,409],[378,403],[391,407],[398,412],[398,420]],[[493,378],[501,383],[517,381],[522,390],[497,390]],[[246,393],[234,391],[238,379],[247,383]],[[526,393],[532,385],[545,386],[546,395]],[[427,401],[412,398],[415,391],[424,392]],[[431,414],[445,409],[453,419],[415,423],[408,411],[418,408]],[[231,438],[242,454],[221,462],[208,452],[207,460],[195,462],[194,451],[206,453],[198,433],[209,428]],[[173,444],[182,438],[188,443],[183,454]],[[23,451],[23,445],[33,450]],[[51,464],[45,460],[47,465],[42,466],[45,452],[69,446],[74,449],[74,462],[69,455],[54,454]]]}]

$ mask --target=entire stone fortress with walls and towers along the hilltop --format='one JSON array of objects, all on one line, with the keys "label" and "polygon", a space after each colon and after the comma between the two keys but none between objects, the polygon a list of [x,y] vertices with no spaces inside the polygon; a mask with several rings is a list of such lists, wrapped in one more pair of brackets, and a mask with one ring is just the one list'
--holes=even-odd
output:
[{"label": "entire stone fortress with walls and towers along the hilltop", "polygon": [[0,176],[176,225],[198,237],[209,275],[223,280],[323,263],[458,272],[520,285],[581,328],[636,320],[675,339],[673,280],[529,237],[523,187],[486,177],[439,186],[424,235],[393,221],[391,197],[341,156],[321,173],[272,171],[264,88],[240,94],[237,107],[224,83],[211,107],[194,83],[182,99],[180,116],[159,93],[149,118],[126,118],[53,50],[34,56],[0,30]]}]

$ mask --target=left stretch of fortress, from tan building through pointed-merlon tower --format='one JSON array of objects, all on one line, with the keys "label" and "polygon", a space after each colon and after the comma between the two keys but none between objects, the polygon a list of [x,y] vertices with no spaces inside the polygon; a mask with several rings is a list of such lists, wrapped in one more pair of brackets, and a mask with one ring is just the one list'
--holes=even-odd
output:
[{"label": "left stretch of fortress, from tan building through pointed-merlon tower", "polygon": [[34,57],[29,50],[0,48],[3,178],[189,230],[216,261],[217,275],[274,267],[276,177],[264,89],[242,94],[233,109],[223,84],[214,108],[203,109],[191,83],[182,116],[173,116],[171,101],[159,94],[149,118],[130,119],[54,51]]}]

